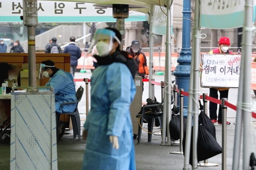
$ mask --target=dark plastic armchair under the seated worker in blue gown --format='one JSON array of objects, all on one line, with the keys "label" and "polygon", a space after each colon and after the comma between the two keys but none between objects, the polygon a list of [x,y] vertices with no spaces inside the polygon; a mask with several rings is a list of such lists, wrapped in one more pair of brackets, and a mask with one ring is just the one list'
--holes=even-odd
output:
[{"label": "dark plastic armchair under the seated worker in blue gown", "polygon": [[[67,114],[70,115],[71,117],[71,121],[72,121],[72,126],[73,126],[73,134],[74,134],[74,138],[76,138],[76,135],[78,135],[78,139],[81,139],[81,122],[80,122],[80,115],[78,112],[78,102],[80,102],[81,98],[83,96],[83,87],[80,86],[77,91],[76,91],[76,99],[77,101],[74,102],[64,102],[62,103],[62,105],[60,106],[61,108],[64,105],[68,105],[68,104],[73,104],[76,103],[76,109],[74,112],[62,112],[60,114]],[[58,121],[59,122],[59,121]],[[59,126],[57,126],[56,128],[57,130],[57,137],[58,137],[58,130],[59,130]],[[58,139],[58,138],[57,138]]]}]

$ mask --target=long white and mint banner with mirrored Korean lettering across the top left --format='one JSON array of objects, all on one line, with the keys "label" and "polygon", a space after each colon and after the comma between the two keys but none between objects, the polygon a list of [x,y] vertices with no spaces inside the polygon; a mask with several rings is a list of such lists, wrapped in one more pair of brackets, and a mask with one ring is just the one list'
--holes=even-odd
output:
[{"label": "long white and mint banner with mirrored Korean lettering across the top left", "polygon": [[[112,8],[92,3],[38,0],[38,22],[116,22]],[[0,0],[0,22],[23,22],[22,0]],[[146,21],[145,14],[129,11],[126,21]]]}]

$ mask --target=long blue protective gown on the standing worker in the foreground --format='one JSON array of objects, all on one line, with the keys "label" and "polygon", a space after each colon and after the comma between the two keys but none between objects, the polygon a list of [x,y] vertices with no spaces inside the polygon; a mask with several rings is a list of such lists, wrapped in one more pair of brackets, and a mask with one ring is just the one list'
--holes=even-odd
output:
[{"label": "long blue protective gown on the standing worker in the foreground", "polygon": [[[130,103],[135,95],[133,77],[123,63],[101,65],[91,77],[91,109],[83,170],[135,170]],[[109,135],[119,137],[113,149]]]}]

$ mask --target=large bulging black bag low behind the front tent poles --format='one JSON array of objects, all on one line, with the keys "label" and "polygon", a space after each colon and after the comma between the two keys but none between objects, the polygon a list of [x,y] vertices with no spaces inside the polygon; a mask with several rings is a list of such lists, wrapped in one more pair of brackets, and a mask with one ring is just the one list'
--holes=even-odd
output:
[{"label": "large bulging black bag low behind the front tent poles", "polygon": [[[182,147],[183,154],[185,155],[185,142],[186,142],[186,133],[183,138]],[[193,149],[193,127],[191,133],[191,142],[190,142],[190,165],[192,165],[192,149]],[[209,133],[208,130],[202,125],[198,127],[198,139],[197,139],[197,161],[203,161],[213,156],[222,153],[222,149],[216,139]]]}]

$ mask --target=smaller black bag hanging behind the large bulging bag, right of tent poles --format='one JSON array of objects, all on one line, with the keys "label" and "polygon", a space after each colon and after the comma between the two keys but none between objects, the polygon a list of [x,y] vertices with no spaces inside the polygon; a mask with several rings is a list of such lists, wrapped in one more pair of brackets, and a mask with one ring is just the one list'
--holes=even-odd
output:
[{"label": "smaller black bag hanging behind the large bulging bag, right of tent poles", "polygon": [[205,114],[204,112],[204,106],[201,105],[201,101],[199,100],[199,105],[200,105],[200,114],[199,114],[199,124],[204,126],[206,130],[208,130],[211,135],[216,139],[216,129],[213,123],[211,122],[211,119]]}]

